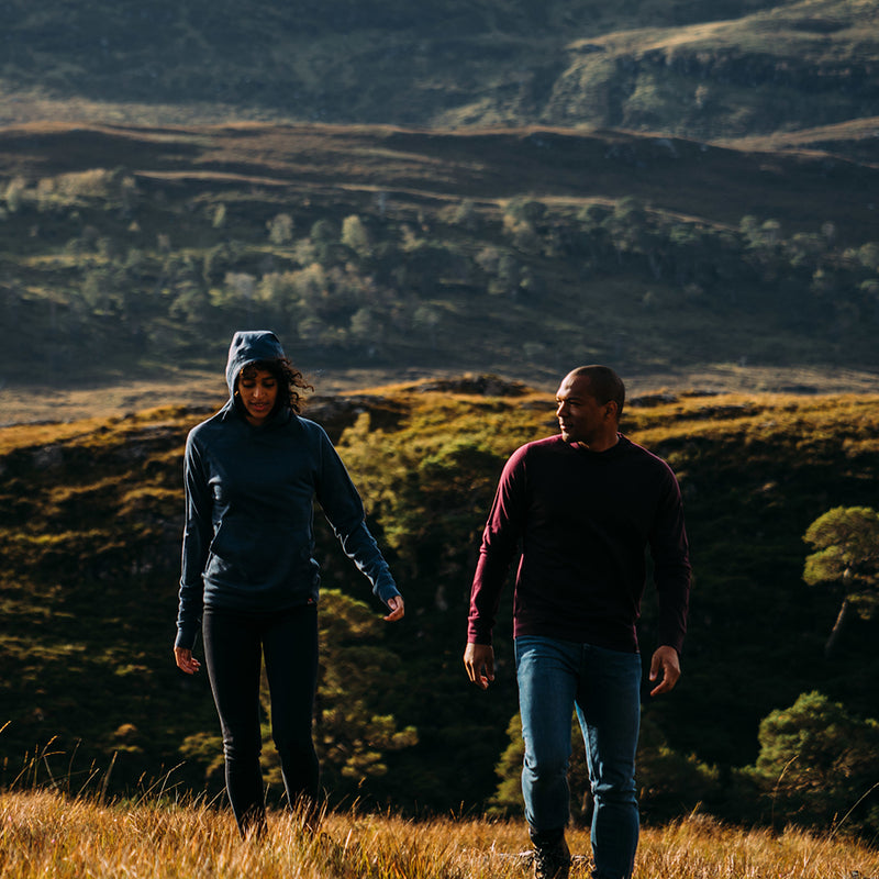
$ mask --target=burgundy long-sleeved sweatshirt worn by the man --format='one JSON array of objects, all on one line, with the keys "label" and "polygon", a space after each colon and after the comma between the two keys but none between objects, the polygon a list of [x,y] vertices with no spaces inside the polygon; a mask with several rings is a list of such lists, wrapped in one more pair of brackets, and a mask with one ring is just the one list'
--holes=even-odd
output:
[{"label": "burgundy long-sleeved sweatshirt worn by the man", "polygon": [[491,644],[501,591],[521,549],[514,635],[636,652],[649,547],[658,644],[680,653],[690,563],[671,468],[620,434],[607,452],[553,436],[518,449],[498,485],[470,593],[468,641]]}]

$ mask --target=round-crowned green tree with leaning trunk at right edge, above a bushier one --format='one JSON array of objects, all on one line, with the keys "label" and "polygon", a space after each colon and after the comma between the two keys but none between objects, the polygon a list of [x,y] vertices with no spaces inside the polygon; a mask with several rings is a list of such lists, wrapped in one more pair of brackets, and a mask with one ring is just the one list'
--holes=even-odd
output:
[{"label": "round-crowned green tree with leaning trunk at right edge, above a bushier one", "polygon": [[843,602],[824,653],[831,656],[852,608],[869,620],[879,604],[879,513],[870,507],[835,507],[819,516],[803,535],[815,547],[805,559],[810,586],[838,585]]}]

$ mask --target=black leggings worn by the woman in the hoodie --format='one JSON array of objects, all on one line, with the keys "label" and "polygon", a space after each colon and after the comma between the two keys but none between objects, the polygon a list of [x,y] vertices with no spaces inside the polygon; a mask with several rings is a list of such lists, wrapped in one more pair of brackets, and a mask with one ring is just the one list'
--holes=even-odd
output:
[{"label": "black leggings worn by the woman in the hoodie", "polygon": [[226,791],[244,833],[265,823],[265,793],[259,767],[259,675],[266,658],[271,698],[271,737],[281,763],[291,805],[319,794],[318,755],[311,737],[318,682],[318,609],[244,614],[205,608],[204,659],[220,715]]}]

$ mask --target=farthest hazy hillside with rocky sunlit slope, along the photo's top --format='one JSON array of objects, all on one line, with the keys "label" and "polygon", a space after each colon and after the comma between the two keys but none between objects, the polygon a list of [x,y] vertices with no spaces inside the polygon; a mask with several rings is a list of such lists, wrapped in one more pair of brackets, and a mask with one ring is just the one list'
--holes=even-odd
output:
[{"label": "farthest hazy hillside with rocky sunlit slope, along the photo's top", "polygon": [[4,13],[7,124],[590,125],[714,141],[879,115],[871,0],[13,0]]}]

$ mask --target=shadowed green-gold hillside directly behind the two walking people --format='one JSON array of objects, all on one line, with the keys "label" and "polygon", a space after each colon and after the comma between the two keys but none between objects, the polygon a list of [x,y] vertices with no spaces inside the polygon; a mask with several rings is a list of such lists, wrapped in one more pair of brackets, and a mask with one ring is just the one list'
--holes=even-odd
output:
[{"label": "shadowed green-gold hillside directly behind the two walking people", "polygon": [[[181,789],[218,788],[207,681],[183,680],[170,654],[180,455],[209,411],[0,430],[7,783],[18,767],[85,783],[115,754],[114,790],[164,772]],[[481,693],[460,665],[468,583],[500,467],[519,444],[554,431],[550,400],[471,377],[315,398],[308,412],[337,442],[408,607],[399,631],[383,630],[375,608],[354,601],[367,598],[363,585],[321,532],[326,783],[337,798],[407,810],[485,808],[515,712],[509,604],[498,681]],[[802,535],[832,507],[875,505],[879,397],[636,396],[624,429],[676,468],[696,570],[685,677],[672,697],[645,704],[646,821],[700,801],[736,822],[798,820],[778,776],[761,788],[747,767],[760,720],[801,693],[821,691],[854,717],[876,714],[879,623],[854,620],[839,652],[824,657],[842,594],[803,583]],[[649,589],[644,611],[648,650]],[[379,663],[375,688],[369,669]],[[404,735],[389,737],[389,724]],[[270,760],[267,771],[277,779]],[[857,774],[834,778],[852,785],[839,794],[845,810],[866,793]],[[830,822],[838,800],[824,790],[822,802],[817,819],[801,820]],[[849,822],[875,827],[875,800],[858,804]]]}]

